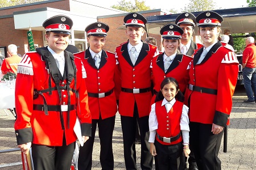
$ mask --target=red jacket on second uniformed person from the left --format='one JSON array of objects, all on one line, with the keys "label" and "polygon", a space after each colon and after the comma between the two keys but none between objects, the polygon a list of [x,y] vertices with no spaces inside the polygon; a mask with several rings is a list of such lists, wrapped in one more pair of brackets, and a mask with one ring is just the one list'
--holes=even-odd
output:
[{"label": "red jacket on second uniformed person from the left", "polygon": [[[114,89],[114,74],[117,68],[114,53],[102,50],[100,67],[98,69],[95,66],[89,48],[85,52],[76,53],[75,56],[81,58],[82,63],[84,63],[87,73],[85,82],[88,93],[100,94]],[[89,96],[89,109],[92,113],[92,119],[98,120],[100,114],[102,119],[115,116],[115,113],[117,113],[115,91],[111,95],[101,98]]]}]

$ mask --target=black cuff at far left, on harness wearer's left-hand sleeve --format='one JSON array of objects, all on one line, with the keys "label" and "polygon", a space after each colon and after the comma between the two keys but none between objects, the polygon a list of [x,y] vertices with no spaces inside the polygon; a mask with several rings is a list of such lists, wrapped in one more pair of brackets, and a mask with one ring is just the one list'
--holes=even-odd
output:
[{"label": "black cuff at far left, on harness wearer's left-hand sleeve", "polygon": [[32,128],[15,130],[15,135],[18,145],[33,141]]}]

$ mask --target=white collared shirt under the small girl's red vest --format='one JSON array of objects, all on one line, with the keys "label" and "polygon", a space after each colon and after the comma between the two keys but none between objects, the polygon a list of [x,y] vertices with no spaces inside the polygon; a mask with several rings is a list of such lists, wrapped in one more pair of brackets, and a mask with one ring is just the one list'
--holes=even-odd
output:
[{"label": "white collared shirt under the small girl's red vest", "polygon": [[[172,99],[170,103],[166,99],[163,99],[162,106],[165,105],[167,113],[175,104],[176,99]],[[188,119],[188,107],[183,105],[182,113],[180,117],[180,130],[182,131],[182,138],[184,143],[189,143],[189,119]],[[151,112],[148,119],[148,126],[150,130],[150,138],[148,142],[155,142],[156,129],[158,129],[158,119],[155,114],[155,103],[151,105]]]}]

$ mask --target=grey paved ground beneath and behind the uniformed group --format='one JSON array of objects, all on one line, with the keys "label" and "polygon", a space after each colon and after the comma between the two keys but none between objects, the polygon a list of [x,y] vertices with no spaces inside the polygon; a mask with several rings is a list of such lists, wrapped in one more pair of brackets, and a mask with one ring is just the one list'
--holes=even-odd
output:
[{"label": "grey paved ground beneath and behind the uniformed group", "polygon": [[[1,94],[0,94],[1,95]],[[222,169],[224,170],[254,170],[256,169],[256,104],[244,104],[246,100],[245,90],[242,86],[237,87],[233,97],[233,109],[231,124],[228,129],[228,152],[224,153],[223,145],[219,157],[222,161]],[[3,110],[0,110],[0,150],[6,150],[16,147],[14,135],[14,117],[8,111],[9,116],[6,116]],[[140,145],[136,145],[137,153],[140,151]],[[115,169],[125,169],[123,161],[123,145],[122,131],[119,114],[115,121],[115,129],[113,136],[114,150],[114,166]],[[93,151],[93,169],[101,169],[99,162],[100,146],[98,135],[96,136],[94,151]],[[20,152],[11,152],[8,154],[0,154],[0,169],[1,170],[19,170],[22,165],[12,167],[4,167],[3,164],[21,162]],[[138,157],[137,162],[140,162]],[[139,167],[139,164],[138,164]]]}]

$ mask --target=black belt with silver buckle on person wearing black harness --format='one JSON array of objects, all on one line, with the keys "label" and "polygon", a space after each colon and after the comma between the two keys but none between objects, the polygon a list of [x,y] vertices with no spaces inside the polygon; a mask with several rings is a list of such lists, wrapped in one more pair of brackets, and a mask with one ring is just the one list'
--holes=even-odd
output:
[{"label": "black belt with silver buckle on person wearing black harness", "polygon": [[[47,105],[48,111],[55,111],[55,112],[67,112],[68,111],[68,105]],[[70,110],[75,110],[75,105],[70,105]],[[43,104],[33,104],[33,110],[35,111],[44,111],[44,105]]]}]

